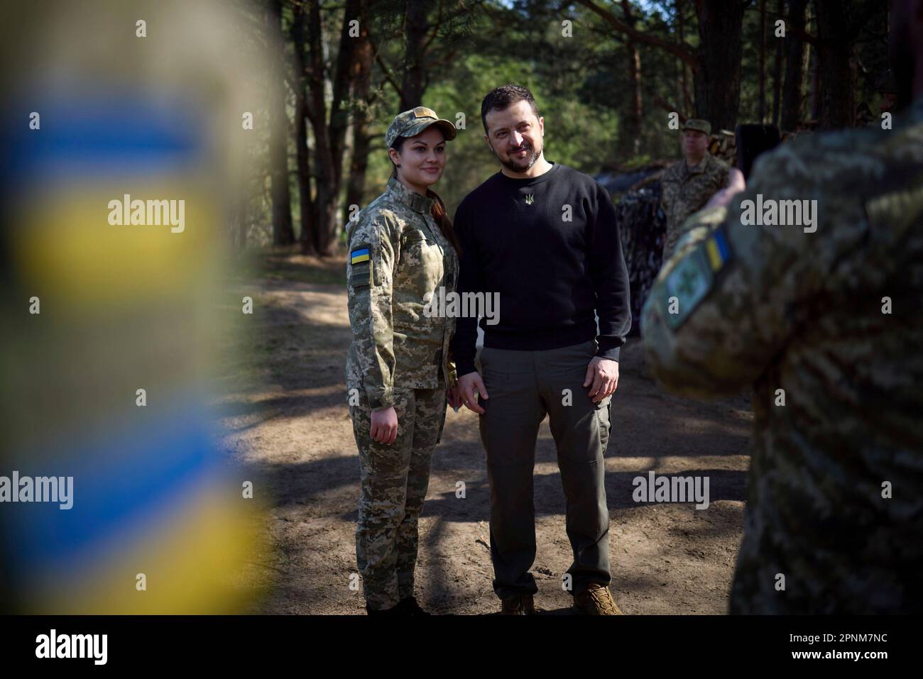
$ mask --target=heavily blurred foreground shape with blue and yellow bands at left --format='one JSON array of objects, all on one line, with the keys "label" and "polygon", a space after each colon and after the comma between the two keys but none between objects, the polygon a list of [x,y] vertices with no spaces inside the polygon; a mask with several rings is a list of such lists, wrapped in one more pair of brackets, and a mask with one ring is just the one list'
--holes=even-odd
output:
[{"label": "heavily blurred foreground shape with blue and yellow bands at left", "polygon": [[0,4],[0,612],[240,613],[271,582],[218,391],[252,317],[242,114],[282,49],[247,7]]}]

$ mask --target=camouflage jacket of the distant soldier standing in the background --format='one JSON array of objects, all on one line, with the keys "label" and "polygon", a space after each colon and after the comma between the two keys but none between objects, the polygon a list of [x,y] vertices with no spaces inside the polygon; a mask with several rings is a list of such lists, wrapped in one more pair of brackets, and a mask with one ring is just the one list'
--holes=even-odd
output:
[{"label": "camouflage jacket of the distant soldier standing in the background", "polygon": [[690,168],[685,160],[679,161],[661,176],[660,202],[666,215],[664,258],[673,254],[686,218],[728,184],[729,170],[725,161],[706,153],[698,165]]}]

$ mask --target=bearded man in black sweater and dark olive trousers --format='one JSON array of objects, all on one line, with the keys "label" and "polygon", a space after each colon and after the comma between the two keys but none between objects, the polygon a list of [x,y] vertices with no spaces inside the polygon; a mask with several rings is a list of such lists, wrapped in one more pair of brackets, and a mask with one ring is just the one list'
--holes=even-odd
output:
[{"label": "bearded man in black sweater and dark olive trousers", "polygon": [[462,200],[455,229],[458,292],[499,301],[498,319],[482,322],[483,379],[475,318],[458,318],[451,346],[462,399],[481,415],[494,591],[504,613],[533,613],[535,441],[547,414],[573,550],[563,586],[581,613],[617,614],[603,454],[631,315],[615,208],[593,178],[545,161],[545,120],[528,89],[493,90],[481,120],[503,167]]}]

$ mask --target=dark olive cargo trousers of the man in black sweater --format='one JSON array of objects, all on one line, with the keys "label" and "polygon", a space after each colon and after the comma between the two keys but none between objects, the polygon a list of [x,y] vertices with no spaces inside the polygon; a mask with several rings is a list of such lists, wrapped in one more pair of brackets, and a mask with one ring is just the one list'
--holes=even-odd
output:
[{"label": "dark olive cargo trousers of the man in black sweater", "polygon": [[485,409],[480,429],[490,481],[494,591],[500,599],[537,590],[529,572],[535,559],[533,471],[538,427],[546,414],[567,498],[570,593],[611,579],[603,463],[611,397],[593,403],[583,387],[595,351],[595,340],[546,351],[481,351],[489,398],[479,401]]}]

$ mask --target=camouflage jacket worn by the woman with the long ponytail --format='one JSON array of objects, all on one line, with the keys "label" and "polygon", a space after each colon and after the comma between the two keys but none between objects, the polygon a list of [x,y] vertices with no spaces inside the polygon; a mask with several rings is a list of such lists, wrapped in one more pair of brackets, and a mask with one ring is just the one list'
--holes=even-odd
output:
[{"label": "camouflage jacket worn by the woman with the long ponytail", "polygon": [[454,384],[449,341],[455,319],[425,312],[427,293],[454,292],[459,262],[424,197],[391,177],[351,221],[346,275],[353,343],[347,387],[365,388],[373,411],[393,405],[395,388]]}]

